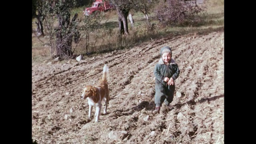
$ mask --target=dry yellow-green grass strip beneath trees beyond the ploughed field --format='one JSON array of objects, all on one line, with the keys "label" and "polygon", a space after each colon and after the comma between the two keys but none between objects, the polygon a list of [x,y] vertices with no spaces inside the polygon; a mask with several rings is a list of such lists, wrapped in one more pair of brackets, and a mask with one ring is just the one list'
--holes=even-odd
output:
[{"label": "dry yellow-green grass strip beneath trees beyond the ploughed field", "polygon": [[[94,34],[90,36],[90,47],[88,52],[90,54],[100,54],[110,52],[112,50],[122,50],[124,48],[131,48],[143,42],[148,42],[152,39],[163,38],[172,34],[179,36],[183,34],[195,33],[207,34],[213,31],[224,30],[224,0],[207,0],[206,12],[200,16],[204,16],[204,20],[200,23],[192,24],[184,22],[179,25],[169,25],[165,28],[161,27],[158,19],[154,13],[149,15],[150,23],[154,24],[154,29],[149,30],[144,14],[135,12],[133,14],[134,28],[131,27],[128,18],[129,36],[118,36],[118,14],[116,10],[111,10],[104,13],[104,19],[100,22],[102,28],[95,30]],[[78,13],[78,20],[83,20],[83,10],[85,7],[74,8],[71,11],[71,17]],[[32,20],[32,29],[36,30],[36,19]],[[58,24],[56,19],[56,25]],[[82,31],[80,32],[82,33]],[[46,34],[39,39],[32,34],[32,63],[44,62],[51,59],[51,48],[48,45],[49,38]],[[80,43],[72,43],[72,49],[76,55],[86,55],[84,48],[85,38],[81,38]]]}]

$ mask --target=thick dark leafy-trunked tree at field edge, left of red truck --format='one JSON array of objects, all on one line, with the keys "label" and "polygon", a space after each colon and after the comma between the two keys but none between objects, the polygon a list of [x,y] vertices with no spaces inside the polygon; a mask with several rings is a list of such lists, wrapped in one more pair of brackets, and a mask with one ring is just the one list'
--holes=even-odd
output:
[{"label": "thick dark leafy-trunked tree at field edge, left of red truck", "polygon": [[[52,56],[71,57],[72,40],[78,42],[80,33],[77,30],[78,22],[75,14],[70,22],[70,10],[74,6],[75,0],[46,0],[44,3],[44,14],[47,16],[45,25],[50,36]],[[54,28],[55,20],[58,20],[58,27]],[[55,53],[56,52],[56,53]]]}]

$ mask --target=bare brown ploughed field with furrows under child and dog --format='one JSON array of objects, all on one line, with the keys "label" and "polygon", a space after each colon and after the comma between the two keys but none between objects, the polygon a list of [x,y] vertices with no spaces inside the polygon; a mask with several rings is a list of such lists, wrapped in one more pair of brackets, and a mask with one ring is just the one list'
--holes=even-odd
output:
[{"label": "bare brown ploughed field with furrows under child and dog", "polygon": [[[163,46],[172,47],[181,72],[174,109],[163,104],[154,115],[153,70]],[[102,77],[104,64],[110,72],[108,114],[102,110],[94,122],[80,96],[83,86]],[[80,62],[32,65],[32,139],[38,144],[224,144],[224,28],[152,40]]]}]

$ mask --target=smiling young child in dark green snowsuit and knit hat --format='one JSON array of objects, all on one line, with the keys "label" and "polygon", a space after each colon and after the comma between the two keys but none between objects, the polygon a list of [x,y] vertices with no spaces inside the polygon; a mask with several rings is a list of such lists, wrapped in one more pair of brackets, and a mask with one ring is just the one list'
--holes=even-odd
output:
[{"label": "smiling young child in dark green snowsuit and knit hat", "polygon": [[170,103],[173,100],[175,84],[174,80],[178,78],[180,69],[172,59],[172,50],[168,46],[164,46],[160,50],[161,58],[154,68],[155,80],[155,104],[156,108],[153,114],[160,113],[162,103],[171,109]]}]

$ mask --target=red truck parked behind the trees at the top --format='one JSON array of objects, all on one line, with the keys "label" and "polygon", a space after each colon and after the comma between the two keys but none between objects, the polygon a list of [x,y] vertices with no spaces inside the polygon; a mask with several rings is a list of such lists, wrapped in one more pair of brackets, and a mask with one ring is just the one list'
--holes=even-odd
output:
[{"label": "red truck parked behind the trees at the top", "polygon": [[94,12],[106,12],[107,10],[114,9],[115,6],[110,3],[109,1],[103,1],[103,0],[95,0],[95,2],[92,3],[92,7],[85,8],[83,11],[85,16],[88,16],[90,14],[93,14]]}]

